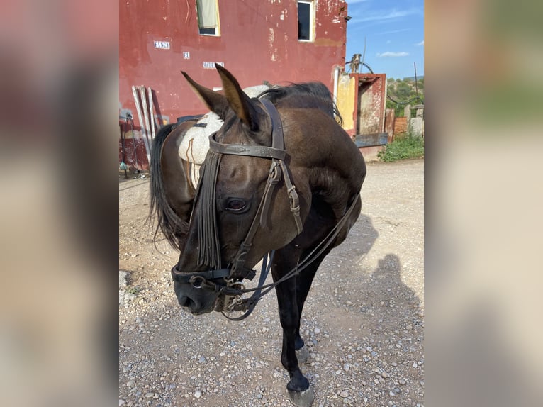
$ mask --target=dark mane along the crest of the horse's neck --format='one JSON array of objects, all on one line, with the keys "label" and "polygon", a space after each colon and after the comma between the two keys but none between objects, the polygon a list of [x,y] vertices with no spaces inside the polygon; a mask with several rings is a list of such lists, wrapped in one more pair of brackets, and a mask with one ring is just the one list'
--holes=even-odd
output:
[{"label": "dark mane along the crest of the horse's neck", "polygon": [[278,108],[318,108],[338,123],[343,122],[340,111],[332,99],[332,94],[321,82],[272,87],[263,91],[258,97],[268,99]]}]

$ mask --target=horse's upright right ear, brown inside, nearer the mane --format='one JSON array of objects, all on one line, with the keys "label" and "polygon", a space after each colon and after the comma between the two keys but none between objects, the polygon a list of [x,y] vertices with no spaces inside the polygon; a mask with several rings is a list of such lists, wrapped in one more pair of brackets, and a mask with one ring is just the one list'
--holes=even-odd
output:
[{"label": "horse's upright right ear, brown inside, nearer the mane", "polygon": [[230,108],[248,128],[257,130],[259,113],[256,106],[254,106],[254,102],[242,91],[240,84],[233,74],[230,74],[230,72],[218,64],[215,64],[215,68],[220,74],[220,80],[223,82],[223,91]]}]

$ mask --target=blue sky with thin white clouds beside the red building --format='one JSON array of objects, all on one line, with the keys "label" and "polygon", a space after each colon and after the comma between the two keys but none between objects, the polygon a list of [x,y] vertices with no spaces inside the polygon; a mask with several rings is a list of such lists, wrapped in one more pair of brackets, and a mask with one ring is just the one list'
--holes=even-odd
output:
[{"label": "blue sky with thin white clouds beside the red building", "polygon": [[[347,0],[347,60],[366,53],[376,74],[394,79],[424,74],[424,1]],[[346,69],[349,69],[347,65]],[[366,67],[362,72],[369,72]]]}]

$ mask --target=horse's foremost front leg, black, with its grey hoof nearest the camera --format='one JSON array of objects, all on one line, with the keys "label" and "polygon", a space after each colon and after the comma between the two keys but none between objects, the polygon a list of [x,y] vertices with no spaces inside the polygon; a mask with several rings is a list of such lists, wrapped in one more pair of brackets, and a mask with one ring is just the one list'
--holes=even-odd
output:
[{"label": "horse's foremost front leg, black, with its grey hoof nearest the camera", "polygon": [[[274,271],[274,280],[281,276]],[[279,319],[283,328],[283,348],[281,364],[289,372],[290,381],[286,385],[289,396],[296,406],[308,407],[313,403],[315,394],[309,387],[309,381],[303,376],[296,357],[296,336],[300,323],[300,315],[296,303],[295,278],[289,279],[276,286],[277,303],[279,304]]]}]

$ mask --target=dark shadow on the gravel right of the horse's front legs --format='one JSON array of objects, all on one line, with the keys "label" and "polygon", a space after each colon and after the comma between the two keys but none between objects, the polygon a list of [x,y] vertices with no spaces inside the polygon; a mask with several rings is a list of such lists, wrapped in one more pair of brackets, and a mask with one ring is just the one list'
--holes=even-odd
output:
[{"label": "dark shadow on the gravel right of the horse's front legs", "polygon": [[354,403],[366,398],[371,404],[371,395],[391,392],[396,405],[408,398],[422,403],[421,301],[404,284],[397,255],[371,253],[378,238],[371,218],[362,214],[347,242],[321,264],[308,296],[302,333],[315,358],[304,372],[321,402],[333,397],[334,387],[348,387]]}]

